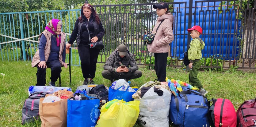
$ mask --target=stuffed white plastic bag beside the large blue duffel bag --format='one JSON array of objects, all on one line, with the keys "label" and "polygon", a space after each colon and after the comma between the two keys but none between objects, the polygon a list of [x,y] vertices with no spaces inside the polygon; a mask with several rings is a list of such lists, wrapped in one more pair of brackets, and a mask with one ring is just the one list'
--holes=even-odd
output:
[{"label": "stuffed white plastic bag beside the large blue duffel bag", "polygon": [[[154,87],[159,87],[163,95],[159,96],[154,92]],[[161,86],[151,87],[139,103],[139,123],[144,127],[169,127],[169,110],[171,93]]]}]

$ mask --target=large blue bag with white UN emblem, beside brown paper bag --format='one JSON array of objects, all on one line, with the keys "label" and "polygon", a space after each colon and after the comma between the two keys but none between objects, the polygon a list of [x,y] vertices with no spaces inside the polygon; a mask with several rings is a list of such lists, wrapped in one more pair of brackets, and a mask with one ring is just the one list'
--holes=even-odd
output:
[{"label": "large blue bag with white UN emblem, beside brown paper bag", "polygon": [[94,127],[100,116],[100,100],[86,94],[80,95],[85,95],[89,100],[67,100],[67,127]]}]

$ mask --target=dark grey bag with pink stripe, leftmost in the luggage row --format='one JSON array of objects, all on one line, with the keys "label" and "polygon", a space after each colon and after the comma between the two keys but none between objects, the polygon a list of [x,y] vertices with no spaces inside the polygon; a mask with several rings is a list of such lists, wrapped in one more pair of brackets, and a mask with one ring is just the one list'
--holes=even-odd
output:
[{"label": "dark grey bag with pink stripe, leftmost in the luggage row", "polygon": [[[22,108],[22,122],[21,124],[25,124],[26,122],[32,122],[35,119],[37,120],[39,117],[39,101],[40,98],[45,97],[48,93],[44,92],[33,92],[28,99],[25,100],[23,108]],[[35,118],[34,118],[35,117]]]}]

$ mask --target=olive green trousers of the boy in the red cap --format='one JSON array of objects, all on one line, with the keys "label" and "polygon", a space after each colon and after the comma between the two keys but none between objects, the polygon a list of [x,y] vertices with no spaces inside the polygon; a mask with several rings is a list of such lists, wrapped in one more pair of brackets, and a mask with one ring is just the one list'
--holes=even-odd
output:
[{"label": "olive green trousers of the boy in the red cap", "polygon": [[192,70],[189,70],[189,84],[201,89],[203,88],[203,85],[201,84],[200,80],[197,78],[198,69],[201,67],[200,59],[196,59],[192,65],[193,65]]}]

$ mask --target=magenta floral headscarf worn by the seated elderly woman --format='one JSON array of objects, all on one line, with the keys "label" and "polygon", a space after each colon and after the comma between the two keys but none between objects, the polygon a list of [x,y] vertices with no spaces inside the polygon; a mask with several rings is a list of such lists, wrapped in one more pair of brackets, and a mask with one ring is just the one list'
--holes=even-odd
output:
[{"label": "magenta floral headscarf worn by the seated elderly woman", "polygon": [[[60,20],[59,19],[52,19],[48,22],[48,24],[46,25],[45,29],[48,30],[49,32],[51,32],[52,34],[54,35],[57,35],[57,25],[58,25],[58,22]],[[60,26],[62,27],[62,26]],[[59,43],[60,43],[60,35],[57,35],[56,37],[56,41],[57,41],[57,46],[59,46]]]}]

